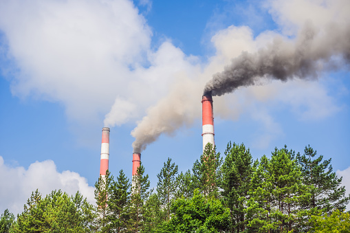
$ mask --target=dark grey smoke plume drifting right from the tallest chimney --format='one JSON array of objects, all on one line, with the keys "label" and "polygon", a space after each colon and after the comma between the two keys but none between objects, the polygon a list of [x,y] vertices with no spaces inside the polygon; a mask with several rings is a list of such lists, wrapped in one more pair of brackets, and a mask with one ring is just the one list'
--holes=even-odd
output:
[{"label": "dark grey smoke plume drifting right from the tallest chimney", "polygon": [[274,38],[255,53],[243,52],[207,82],[204,94],[222,96],[261,78],[287,81],[317,78],[322,70],[336,70],[350,61],[350,24],[329,23],[321,30],[306,23],[294,41]]}]

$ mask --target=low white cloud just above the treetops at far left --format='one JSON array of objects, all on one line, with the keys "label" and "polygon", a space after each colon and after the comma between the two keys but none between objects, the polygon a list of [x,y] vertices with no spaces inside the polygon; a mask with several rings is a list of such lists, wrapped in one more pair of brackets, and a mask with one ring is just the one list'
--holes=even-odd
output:
[{"label": "low white cloud just above the treetops at far left", "polygon": [[6,177],[0,179],[0,209],[8,208],[14,214],[23,211],[23,205],[36,189],[43,197],[52,190],[61,189],[69,195],[79,191],[90,203],[95,203],[95,188],[87,184],[87,179],[69,170],[59,173],[52,160],[36,161],[25,169],[8,166],[0,156],[0,176]]}]

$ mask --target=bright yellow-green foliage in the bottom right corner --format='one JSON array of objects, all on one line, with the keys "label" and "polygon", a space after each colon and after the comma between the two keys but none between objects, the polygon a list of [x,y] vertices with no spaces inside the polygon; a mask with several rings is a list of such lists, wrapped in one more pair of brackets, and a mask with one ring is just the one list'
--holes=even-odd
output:
[{"label": "bright yellow-green foliage in the bottom right corner", "polygon": [[350,213],[344,213],[340,210],[334,210],[330,216],[326,213],[311,217],[313,227],[309,232],[318,233],[349,233],[350,232]]}]

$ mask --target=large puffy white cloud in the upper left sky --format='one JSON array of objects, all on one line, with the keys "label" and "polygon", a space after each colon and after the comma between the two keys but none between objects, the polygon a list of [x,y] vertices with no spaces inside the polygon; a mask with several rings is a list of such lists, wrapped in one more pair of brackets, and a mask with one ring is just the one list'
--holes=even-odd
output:
[{"label": "large puffy white cloud in the upper left sky", "polygon": [[0,27],[17,62],[12,93],[63,102],[94,120],[138,81],[151,30],[131,1],[1,1]]}]

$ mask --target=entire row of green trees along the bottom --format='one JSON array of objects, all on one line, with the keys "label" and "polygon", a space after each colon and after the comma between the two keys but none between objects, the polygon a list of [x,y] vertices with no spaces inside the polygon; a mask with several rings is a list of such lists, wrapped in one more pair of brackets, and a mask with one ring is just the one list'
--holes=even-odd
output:
[{"label": "entire row of green trees along the bottom", "polygon": [[151,189],[142,164],[133,182],[107,172],[96,203],[35,190],[17,217],[1,214],[0,232],[350,232],[342,177],[310,146],[254,160],[244,144],[221,156],[208,143],[192,170],[168,158],[157,178]]}]

